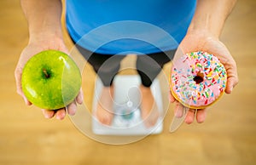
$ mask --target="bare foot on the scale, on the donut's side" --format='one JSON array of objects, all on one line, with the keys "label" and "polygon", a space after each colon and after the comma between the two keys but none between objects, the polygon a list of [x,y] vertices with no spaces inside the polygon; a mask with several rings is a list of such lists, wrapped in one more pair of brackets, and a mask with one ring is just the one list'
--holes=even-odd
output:
[{"label": "bare foot on the scale, on the donut's side", "polygon": [[142,94],[142,118],[144,124],[147,128],[153,127],[157,122],[160,113],[158,111],[157,105],[154,101],[154,96],[150,90],[150,88],[140,86],[141,94]]}]

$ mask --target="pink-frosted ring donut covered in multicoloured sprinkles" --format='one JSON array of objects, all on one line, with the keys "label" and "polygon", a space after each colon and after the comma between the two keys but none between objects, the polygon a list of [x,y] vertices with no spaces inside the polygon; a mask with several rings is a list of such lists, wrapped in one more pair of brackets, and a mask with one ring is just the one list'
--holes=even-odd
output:
[{"label": "pink-frosted ring donut covered in multicoloured sprinkles", "polygon": [[184,54],[173,62],[172,95],[189,108],[202,109],[224,94],[227,73],[218,58],[207,52]]}]

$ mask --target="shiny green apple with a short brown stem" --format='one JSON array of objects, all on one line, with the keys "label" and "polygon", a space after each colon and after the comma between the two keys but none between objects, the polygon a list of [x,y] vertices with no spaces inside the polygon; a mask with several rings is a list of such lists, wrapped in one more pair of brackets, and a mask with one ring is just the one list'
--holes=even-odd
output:
[{"label": "shiny green apple with a short brown stem", "polygon": [[45,50],[32,56],[21,77],[27,100],[46,110],[57,110],[73,102],[81,83],[78,65],[69,55],[57,50]]}]

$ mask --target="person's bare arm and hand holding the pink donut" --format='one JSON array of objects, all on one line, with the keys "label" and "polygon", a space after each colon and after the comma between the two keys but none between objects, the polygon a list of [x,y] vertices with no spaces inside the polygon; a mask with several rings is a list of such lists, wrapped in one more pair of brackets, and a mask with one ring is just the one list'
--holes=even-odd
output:
[{"label": "person's bare arm and hand holding the pink donut", "polygon": [[[188,32],[180,43],[173,62],[181,55],[194,51],[206,51],[215,54],[224,65],[227,75],[227,87],[225,92],[230,94],[238,83],[236,61],[233,59],[228,48],[218,40],[224,27],[224,22],[236,0],[198,0],[195,15],[191,21]],[[177,102],[171,94],[171,102],[176,102],[175,114],[177,117],[183,115],[183,105]],[[188,112],[185,122],[191,123],[196,118],[197,122],[204,122],[207,111],[205,109]],[[196,117],[195,117],[196,115]]]}]

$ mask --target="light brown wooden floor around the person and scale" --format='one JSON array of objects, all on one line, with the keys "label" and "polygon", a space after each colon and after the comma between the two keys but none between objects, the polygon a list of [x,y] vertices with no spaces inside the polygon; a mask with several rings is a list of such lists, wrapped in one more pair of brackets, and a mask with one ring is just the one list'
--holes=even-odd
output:
[{"label": "light brown wooden floor around the person and scale", "polygon": [[[209,108],[205,123],[183,124],[170,134],[171,105],[162,134],[129,145],[105,145],[81,134],[68,117],[64,121],[44,119],[38,108],[27,107],[16,94],[14,70],[28,41],[27,25],[18,0],[1,0],[0,164],[255,164],[255,9],[255,0],[238,1],[226,22],[221,40],[236,59],[240,83],[233,94],[225,94]],[[88,104],[91,92],[85,94]]]}]

